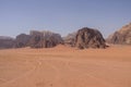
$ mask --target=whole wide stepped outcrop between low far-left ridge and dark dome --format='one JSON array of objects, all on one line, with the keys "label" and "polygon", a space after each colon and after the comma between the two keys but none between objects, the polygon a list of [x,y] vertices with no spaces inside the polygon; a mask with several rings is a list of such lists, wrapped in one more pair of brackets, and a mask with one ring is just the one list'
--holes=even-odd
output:
[{"label": "whole wide stepped outcrop between low far-left ridge and dark dome", "polygon": [[29,35],[20,34],[15,39],[15,48],[32,47],[32,48],[51,48],[62,42],[59,34],[51,32],[31,30]]}]

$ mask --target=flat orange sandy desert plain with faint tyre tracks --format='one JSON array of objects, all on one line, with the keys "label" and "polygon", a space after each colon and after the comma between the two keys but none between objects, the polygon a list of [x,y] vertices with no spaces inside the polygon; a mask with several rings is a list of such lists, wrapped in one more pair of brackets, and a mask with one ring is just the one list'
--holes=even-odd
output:
[{"label": "flat orange sandy desert plain with faint tyre tracks", "polygon": [[0,87],[131,87],[131,47],[0,50]]}]

